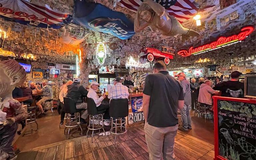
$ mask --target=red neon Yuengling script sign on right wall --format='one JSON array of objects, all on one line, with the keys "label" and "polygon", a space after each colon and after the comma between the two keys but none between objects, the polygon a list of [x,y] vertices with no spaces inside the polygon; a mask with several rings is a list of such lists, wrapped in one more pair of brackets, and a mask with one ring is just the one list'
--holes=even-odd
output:
[{"label": "red neon Yuengling script sign on right wall", "polygon": [[244,40],[248,35],[250,35],[253,32],[254,28],[252,26],[247,26],[247,27],[243,27],[241,29],[241,32],[239,32],[238,34],[229,36],[229,37],[219,37],[217,41],[213,41],[209,44],[206,45],[202,45],[199,46],[197,48],[193,48],[193,46],[191,46],[189,48],[189,50],[180,50],[178,51],[178,55],[181,55],[182,57],[187,57],[190,56],[192,54],[200,54],[200,53],[204,53],[204,52],[208,52],[217,48],[222,48],[222,46],[224,47],[227,44],[230,43],[235,43],[235,42],[241,42],[242,40]]}]

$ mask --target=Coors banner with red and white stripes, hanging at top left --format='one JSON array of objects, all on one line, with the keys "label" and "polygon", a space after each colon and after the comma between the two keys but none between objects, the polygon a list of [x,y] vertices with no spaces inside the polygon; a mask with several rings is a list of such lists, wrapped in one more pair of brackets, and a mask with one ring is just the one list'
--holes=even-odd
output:
[{"label": "Coors banner with red and white stripes, hanging at top left", "polygon": [[69,12],[52,9],[40,1],[30,2],[30,0],[1,0],[0,17],[43,28],[61,28],[64,21],[69,17]]}]

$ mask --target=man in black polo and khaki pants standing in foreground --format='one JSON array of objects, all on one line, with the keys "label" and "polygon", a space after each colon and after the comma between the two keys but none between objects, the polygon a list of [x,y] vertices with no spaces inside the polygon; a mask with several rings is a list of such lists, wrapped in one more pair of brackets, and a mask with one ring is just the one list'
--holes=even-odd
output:
[{"label": "man in black polo and khaki pants standing in foreground", "polygon": [[146,77],[143,91],[145,137],[150,160],[174,160],[174,138],[178,130],[177,109],[184,94],[178,80],[165,71],[163,61],[155,63],[154,74]]}]

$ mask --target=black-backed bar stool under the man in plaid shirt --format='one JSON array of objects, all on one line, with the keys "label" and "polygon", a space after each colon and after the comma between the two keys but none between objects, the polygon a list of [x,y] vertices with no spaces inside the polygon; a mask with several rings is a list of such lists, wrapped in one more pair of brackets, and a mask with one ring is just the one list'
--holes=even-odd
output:
[{"label": "black-backed bar stool under the man in plaid shirt", "polygon": [[[115,135],[115,142],[114,142],[115,144],[116,144],[116,136],[127,132],[125,117],[128,116],[128,112],[129,112],[129,107],[128,107],[127,98],[110,100],[109,115],[111,117],[111,129],[110,129],[109,139],[111,134]],[[115,118],[115,120],[113,120],[113,118]],[[118,128],[120,128],[120,130],[117,131]]]}]

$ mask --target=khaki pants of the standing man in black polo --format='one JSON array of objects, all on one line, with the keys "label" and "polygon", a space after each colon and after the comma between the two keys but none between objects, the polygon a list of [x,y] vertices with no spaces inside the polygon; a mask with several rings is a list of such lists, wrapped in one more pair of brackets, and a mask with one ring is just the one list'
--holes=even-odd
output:
[{"label": "khaki pants of the standing man in black polo", "polygon": [[150,160],[175,160],[174,138],[178,124],[172,127],[154,127],[145,123],[144,131]]}]

